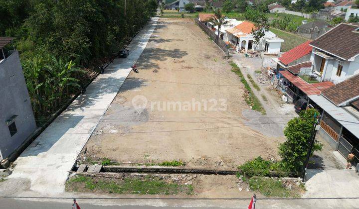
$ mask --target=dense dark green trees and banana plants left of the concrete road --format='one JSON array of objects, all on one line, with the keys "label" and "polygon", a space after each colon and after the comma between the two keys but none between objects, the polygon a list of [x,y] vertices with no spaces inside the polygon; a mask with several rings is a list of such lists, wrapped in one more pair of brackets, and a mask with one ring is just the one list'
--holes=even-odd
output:
[{"label": "dense dark green trees and banana plants left of the concrete road", "polygon": [[88,84],[157,8],[157,0],[128,0],[125,15],[123,0],[0,0],[0,36],[15,37],[38,124]]}]

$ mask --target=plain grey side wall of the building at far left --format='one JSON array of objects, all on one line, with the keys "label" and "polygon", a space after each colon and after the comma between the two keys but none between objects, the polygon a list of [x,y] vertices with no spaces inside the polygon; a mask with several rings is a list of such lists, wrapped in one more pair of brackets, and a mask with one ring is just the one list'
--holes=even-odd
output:
[{"label": "plain grey side wall of the building at far left", "polygon": [[[0,98],[0,157],[5,159],[36,129],[17,51],[0,63]],[[12,115],[18,115],[17,133],[10,136],[6,120]]]}]

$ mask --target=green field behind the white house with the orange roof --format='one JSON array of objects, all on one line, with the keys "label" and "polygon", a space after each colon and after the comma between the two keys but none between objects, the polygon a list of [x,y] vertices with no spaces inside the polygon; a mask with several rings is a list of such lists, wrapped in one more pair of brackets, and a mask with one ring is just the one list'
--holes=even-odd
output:
[{"label": "green field behind the white house with the orange roof", "polygon": [[279,38],[284,40],[284,43],[282,43],[281,46],[281,52],[289,51],[308,40],[304,37],[295,35],[293,33],[285,32],[283,30],[279,30],[273,27],[271,27],[269,30],[275,33]]}]

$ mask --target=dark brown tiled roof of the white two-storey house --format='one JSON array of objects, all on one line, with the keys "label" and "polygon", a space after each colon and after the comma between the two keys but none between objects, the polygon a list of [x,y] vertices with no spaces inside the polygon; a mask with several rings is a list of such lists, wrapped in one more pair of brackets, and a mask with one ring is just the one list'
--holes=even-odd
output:
[{"label": "dark brown tiled roof of the white two-storey house", "polygon": [[335,56],[348,60],[359,54],[359,33],[354,33],[359,25],[341,23],[310,45]]}]

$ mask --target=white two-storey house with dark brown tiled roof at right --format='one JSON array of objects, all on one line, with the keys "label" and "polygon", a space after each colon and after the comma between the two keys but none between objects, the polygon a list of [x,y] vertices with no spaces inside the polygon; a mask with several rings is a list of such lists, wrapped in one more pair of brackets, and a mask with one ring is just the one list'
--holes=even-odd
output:
[{"label": "white two-storey house with dark brown tiled roof at right", "polygon": [[[338,38],[340,37],[340,38]],[[338,84],[359,74],[359,25],[341,23],[310,43],[312,72],[320,82]]]}]

